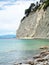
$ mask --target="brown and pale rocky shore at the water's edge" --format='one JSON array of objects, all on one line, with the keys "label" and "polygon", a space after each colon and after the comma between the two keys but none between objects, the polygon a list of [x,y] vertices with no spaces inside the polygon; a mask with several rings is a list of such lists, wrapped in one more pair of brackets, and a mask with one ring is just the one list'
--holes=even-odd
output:
[{"label": "brown and pale rocky shore at the water's edge", "polygon": [[14,63],[14,65],[49,65],[49,47],[43,46],[39,48],[40,53],[24,62]]}]

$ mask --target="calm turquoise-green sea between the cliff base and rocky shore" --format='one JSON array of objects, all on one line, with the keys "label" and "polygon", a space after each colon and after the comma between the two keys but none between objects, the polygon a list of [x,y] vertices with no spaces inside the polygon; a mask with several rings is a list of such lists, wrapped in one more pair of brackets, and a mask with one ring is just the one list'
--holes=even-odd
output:
[{"label": "calm turquoise-green sea between the cliff base and rocky shore", "polygon": [[0,39],[0,65],[14,65],[33,58],[41,46],[49,46],[48,39]]}]

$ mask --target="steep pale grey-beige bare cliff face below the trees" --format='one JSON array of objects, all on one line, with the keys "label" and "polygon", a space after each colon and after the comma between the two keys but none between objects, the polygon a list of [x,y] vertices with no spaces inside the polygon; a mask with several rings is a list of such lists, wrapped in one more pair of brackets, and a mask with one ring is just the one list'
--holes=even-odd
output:
[{"label": "steep pale grey-beige bare cliff face below the trees", "polygon": [[17,30],[18,39],[49,38],[49,7],[31,12]]}]

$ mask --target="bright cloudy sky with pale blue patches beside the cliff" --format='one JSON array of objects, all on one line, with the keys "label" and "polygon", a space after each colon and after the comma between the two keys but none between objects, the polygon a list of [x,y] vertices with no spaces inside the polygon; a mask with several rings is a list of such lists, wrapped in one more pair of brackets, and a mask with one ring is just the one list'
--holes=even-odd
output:
[{"label": "bright cloudy sky with pale blue patches beside the cliff", "polygon": [[0,35],[16,34],[24,11],[39,0],[0,0]]}]

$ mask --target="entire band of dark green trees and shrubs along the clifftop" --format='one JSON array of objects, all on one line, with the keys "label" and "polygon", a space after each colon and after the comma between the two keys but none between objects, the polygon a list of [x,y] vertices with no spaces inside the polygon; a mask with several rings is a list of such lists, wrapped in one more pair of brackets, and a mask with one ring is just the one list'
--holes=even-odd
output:
[{"label": "entire band of dark green trees and shrubs along the clifftop", "polygon": [[25,10],[25,16],[21,19],[21,22],[30,14],[31,9],[33,12],[36,12],[37,10],[40,10],[43,7],[43,10],[45,11],[47,7],[49,6],[49,0],[45,0],[42,2],[42,4],[36,2],[36,5],[34,3],[31,3],[30,7]]}]

